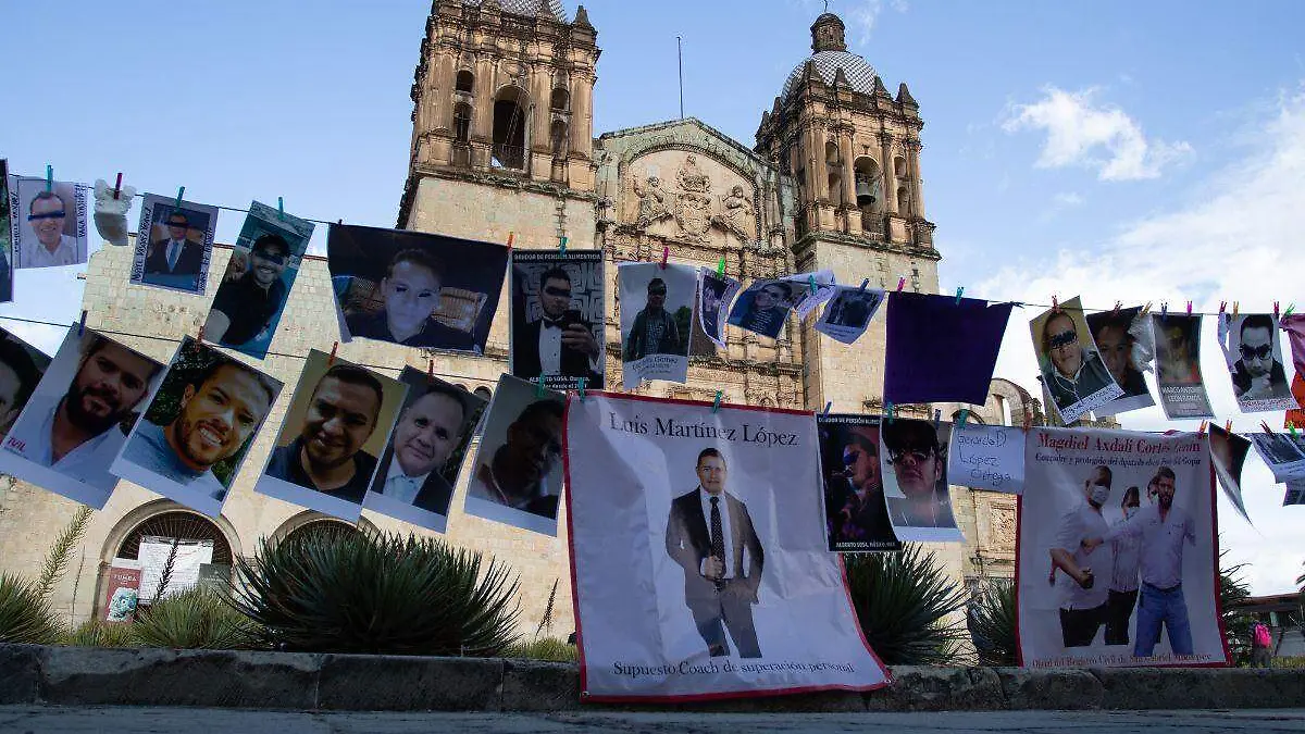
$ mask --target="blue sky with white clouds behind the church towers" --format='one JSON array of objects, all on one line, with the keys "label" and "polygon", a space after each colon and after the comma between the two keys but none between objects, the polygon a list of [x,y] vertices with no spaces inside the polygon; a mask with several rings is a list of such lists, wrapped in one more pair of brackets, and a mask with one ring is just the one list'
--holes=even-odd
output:
[{"label": "blue sky with white clouds behind the church towers", "polygon": [[[681,35],[686,112],[750,146],[809,54],[822,3],[587,9],[603,48],[595,135],[677,116]],[[140,191],[185,185],[187,199],[227,206],[283,196],[299,215],[394,226],[428,10],[425,0],[7,4],[7,57],[21,63],[9,67],[0,157],[27,175],[47,163],[87,183],[123,171]],[[830,10],[886,86],[906,81],[920,103],[944,290],[1305,307],[1292,277],[1305,272],[1305,4],[833,0]],[[218,239],[231,242],[240,221],[224,213]],[[20,273],[18,302],[0,313],[76,319],[64,295],[80,295],[74,273]],[[1015,311],[998,364],[1026,385],[1034,315]],[[25,333],[57,342],[54,330]],[[1215,354],[1207,343],[1207,364]],[[1220,418],[1251,430],[1261,417],[1233,415],[1223,376],[1207,379]],[[1125,426],[1194,428],[1158,410]],[[1224,512],[1224,543],[1254,562],[1258,593],[1287,590],[1305,571],[1293,528],[1305,508],[1275,511],[1282,487],[1250,465],[1259,529]]]}]

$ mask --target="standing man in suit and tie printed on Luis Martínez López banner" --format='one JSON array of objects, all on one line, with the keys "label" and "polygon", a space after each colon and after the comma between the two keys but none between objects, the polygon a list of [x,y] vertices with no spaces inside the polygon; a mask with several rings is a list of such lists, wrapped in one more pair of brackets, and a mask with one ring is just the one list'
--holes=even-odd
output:
[{"label": "standing man in suit and tie printed on Luis Mart\u00ednez L\u00f3pez banner", "polygon": [[720,452],[702,449],[696,471],[698,487],[671,502],[666,552],[684,569],[685,603],[709,654],[731,654],[728,630],[739,657],[761,657],[752,605],[765,551],[748,505],[724,491],[727,468]]}]

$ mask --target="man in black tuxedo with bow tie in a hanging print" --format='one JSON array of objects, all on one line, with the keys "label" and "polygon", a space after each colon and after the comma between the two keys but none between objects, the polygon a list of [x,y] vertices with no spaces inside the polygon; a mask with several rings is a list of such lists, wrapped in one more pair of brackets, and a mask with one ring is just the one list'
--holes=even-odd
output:
[{"label": "man in black tuxedo with bow tie in a hanging print", "polygon": [[526,321],[512,342],[512,374],[523,380],[540,375],[585,377],[589,387],[603,387],[603,353],[594,337],[594,324],[570,308],[572,279],[562,268],[539,277],[542,315]]}]

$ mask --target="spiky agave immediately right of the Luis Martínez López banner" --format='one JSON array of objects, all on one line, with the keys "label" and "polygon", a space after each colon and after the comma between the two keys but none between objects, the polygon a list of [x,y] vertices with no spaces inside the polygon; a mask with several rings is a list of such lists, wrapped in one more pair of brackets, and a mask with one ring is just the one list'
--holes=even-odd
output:
[{"label": "spiky agave immediately right of the Luis Mart\u00ednez L\u00f3pez banner", "polygon": [[907,543],[894,554],[844,556],[848,592],[870,648],[887,665],[949,665],[959,660],[964,593],[933,552]]}]

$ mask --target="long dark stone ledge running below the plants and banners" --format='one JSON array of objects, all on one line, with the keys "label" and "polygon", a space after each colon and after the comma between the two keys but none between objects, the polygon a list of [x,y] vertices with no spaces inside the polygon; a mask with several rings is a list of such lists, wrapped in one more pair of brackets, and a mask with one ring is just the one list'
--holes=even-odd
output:
[{"label": "long dark stone ledge running below the plants and banners", "polygon": [[497,658],[0,644],[0,704],[254,709],[908,712],[1305,708],[1305,670],[893,669],[868,694],[586,705],[573,663]]}]

